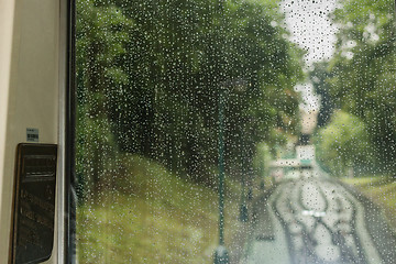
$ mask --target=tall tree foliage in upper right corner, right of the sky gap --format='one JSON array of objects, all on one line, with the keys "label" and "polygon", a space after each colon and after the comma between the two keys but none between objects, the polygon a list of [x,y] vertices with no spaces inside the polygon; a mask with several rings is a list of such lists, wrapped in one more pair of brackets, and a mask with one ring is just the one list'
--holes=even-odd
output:
[{"label": "tall tree foliage in upper right corner, right of the sky gap", "polygon": [[344,0],[333,13],[339,25],[330,62],[330,95],[359,117],[384,172],[396,158],[396,26],[394,1]]}]

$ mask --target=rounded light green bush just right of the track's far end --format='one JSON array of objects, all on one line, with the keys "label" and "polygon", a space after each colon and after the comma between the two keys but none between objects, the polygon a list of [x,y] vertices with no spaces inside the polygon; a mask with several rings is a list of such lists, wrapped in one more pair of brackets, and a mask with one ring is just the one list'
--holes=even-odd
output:
[{"label": "rounded light green bush just right of the track's far end", "polygon": [[346,112],[336,112],[315,142],[318,160],[338,177],[345,176],[348,168],[370,167],[375,161],[365,123]]}]

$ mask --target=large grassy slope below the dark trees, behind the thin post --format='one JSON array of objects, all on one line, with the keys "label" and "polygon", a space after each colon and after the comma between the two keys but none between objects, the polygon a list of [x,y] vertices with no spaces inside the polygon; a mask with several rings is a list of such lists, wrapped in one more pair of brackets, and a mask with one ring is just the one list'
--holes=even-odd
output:
[{"label": "large grassy slope below the dark trees, behind the thin post", "polygon": [[[157,163],[124,156],[111,188],[77,209],[79,263],[212,263],[217,191]],[[238,221],[240,186],[227,180],[226,243]]]}]

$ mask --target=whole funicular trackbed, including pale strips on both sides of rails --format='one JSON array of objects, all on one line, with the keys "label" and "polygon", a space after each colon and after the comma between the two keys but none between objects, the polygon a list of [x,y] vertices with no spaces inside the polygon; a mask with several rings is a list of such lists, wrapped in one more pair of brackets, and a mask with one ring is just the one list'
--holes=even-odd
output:
[{"label": "whole funicular trackbed, including pale strips on both sides of rails", "polygon": [[240,264],[394,264],[381,209],[327,176],[284,180],[253,205]]}]

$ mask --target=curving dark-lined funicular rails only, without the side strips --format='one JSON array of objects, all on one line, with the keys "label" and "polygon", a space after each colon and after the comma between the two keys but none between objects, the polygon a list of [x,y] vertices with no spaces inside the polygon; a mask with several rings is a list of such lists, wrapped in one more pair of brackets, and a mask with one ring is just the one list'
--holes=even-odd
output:
[{"label": "curving dark-lined funicular rails only, without the side strips", "polygon": [[284,227],[292,263],[367,263],[353,197],[328,179],[285,183],[271,207]]}]

